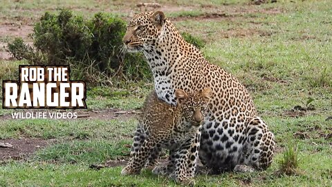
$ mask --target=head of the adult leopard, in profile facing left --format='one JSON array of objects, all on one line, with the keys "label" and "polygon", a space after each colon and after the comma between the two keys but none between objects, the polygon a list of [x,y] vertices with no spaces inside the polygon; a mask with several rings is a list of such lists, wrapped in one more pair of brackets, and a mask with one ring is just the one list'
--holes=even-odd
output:
[{"label": "head of the adult leopard, in profile facing left", "polygon": [[135,15],[129,21],[122,41],[131,52],[141,51],[143,48],[149,49],[149,46],[154,46],[164,23],[165,15],[161,11]]}]

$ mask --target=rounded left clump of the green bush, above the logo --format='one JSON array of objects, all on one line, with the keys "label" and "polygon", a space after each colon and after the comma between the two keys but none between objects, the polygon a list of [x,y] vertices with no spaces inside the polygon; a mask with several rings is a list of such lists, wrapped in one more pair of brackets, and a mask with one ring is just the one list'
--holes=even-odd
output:
[{"label": "rounded left clump of the green bush, above the logo", "polygon": [[86,21],[69,10],[62,10],[59,15],[46,12],[35,24],[33,33],[33,44],[46,55],[46,64],[68,64],[68,60],[89,63],[94,60],[86,57],[92,41]]}]

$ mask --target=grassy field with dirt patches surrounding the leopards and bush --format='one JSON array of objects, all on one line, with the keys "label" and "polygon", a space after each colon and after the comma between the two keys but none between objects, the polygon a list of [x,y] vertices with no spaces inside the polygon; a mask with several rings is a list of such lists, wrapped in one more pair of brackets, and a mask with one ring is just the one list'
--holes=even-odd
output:
[{"label": "grassy field with dirt patches surrounding the leopards and bush", "polygon": [[[0,42],[28,34],[45,11],[71,8],[86,17],[113,12],[127,19],[136,1],[3,1]],[[270,1],[268,1],[270,2]],[[205,40],[205,57],[246,85],[277,141],[263,172],[199,175],[197,186],[332,186],[332,1],[160,1],[178,30]],[[0,52],[5,56],[4,49]],[[0,60],[0,79],[16,80],[24,61]],[[0,109],[0,142],[37,139],[46,146],[29,157],[0,160],[0,186],[176,186],[144,170],[120,175],[136,126],[135,112],[151,82],[90,87],[89,118],[12,120]],[[302,109],[302,110],[301,110]],[[120,112],[119,112],[120,111]],[[125,111],[122,114],[121,111]],[[287,146],[297,148],[296,175],[278,172]],[[1,151],[1,150],[0,150]],[[115,167],[93,170],[91,164]]]}]

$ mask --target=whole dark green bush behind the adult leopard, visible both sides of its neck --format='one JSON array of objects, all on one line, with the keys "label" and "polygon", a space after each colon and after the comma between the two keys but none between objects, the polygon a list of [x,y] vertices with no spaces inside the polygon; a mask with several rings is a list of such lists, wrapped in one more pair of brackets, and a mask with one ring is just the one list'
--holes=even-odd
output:
[{"label": "whole dark green bush behind the adult leopard, visible both sides of its neck", "polygon": [[[91,19],[61,10],[46,12],[35,24],[33,46],[20,38],[8,43],[8,51],[30,64],[71,66],[71,76],[98,84],[117,80],[152,80],[145,58],[139,53],[124,53],[122,37],[126,23],[112,15],[97,13]],[[201,48],[203,40],[183,33],[183,37]]]}]

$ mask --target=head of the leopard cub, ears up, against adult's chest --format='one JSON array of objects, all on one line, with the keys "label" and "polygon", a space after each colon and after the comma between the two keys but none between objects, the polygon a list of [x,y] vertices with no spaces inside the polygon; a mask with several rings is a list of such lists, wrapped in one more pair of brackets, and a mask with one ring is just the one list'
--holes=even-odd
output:
[{"label": "head of the leopard cub, ears up, against adult's chest", "polygon": [[201,125],[208,111],[208,103],[212,96],[212,89],[203,89],[201,92],[185,93],[182,89],[176,89],[175,96],[178,107],[182,109],[185,121],[192,125]]}]

